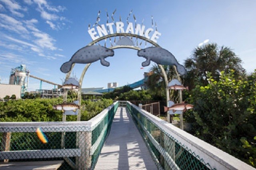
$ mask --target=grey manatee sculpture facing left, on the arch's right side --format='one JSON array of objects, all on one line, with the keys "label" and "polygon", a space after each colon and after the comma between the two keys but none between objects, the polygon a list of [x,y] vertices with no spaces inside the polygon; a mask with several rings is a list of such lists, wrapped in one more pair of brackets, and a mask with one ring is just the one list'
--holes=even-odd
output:
[{"label": "grey manatee sculpture facing left, on the arch's right side", "polygon": [[186,74],[185,67],[178,63],[174,55],[161,47],[148,47],[146,49],[141,49],[138,51],[138,56],[147,59],[142,62],[142,66],[148,66],[150,61],[154,61],[161,65],[175,65],[180,75]]}]

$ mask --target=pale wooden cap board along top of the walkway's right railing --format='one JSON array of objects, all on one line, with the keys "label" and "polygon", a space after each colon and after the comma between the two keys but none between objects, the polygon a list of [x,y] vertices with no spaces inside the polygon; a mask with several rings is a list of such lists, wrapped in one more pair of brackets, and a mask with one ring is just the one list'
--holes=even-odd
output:
[{"label": "pale wooden cap board along top of the walkway's right railing", "polygon": [[[127,101],[128,102],[128,101]],[[206,163],[209,163],[212,168],[216,169],[246,169],[255,170],[252,166],[242,162],[241,160],[235,158],[234,156],[202,141],[201,139],[183,131],[182,129],[175,127],[174,125],[144,111],[140,107],[128,102],[130,105],[135,107],[140,113],[148,117],[152,122],[162,128],[166,133],[170,134],[174,139],[178,140],[184,146],[188,147],[195,154],[204,159]]]}]

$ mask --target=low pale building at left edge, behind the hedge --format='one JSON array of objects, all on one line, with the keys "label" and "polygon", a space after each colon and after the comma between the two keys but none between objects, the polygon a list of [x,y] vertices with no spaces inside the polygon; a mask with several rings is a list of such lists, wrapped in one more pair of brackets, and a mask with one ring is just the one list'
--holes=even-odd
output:
[{"label": "low pale building at left edge, behind the hedge", "polygon": [[0,98],[3,99],[5,96],[12,96],[15,94],[17,99],[21,98],[21,85],[14,84],[0,84]]}]

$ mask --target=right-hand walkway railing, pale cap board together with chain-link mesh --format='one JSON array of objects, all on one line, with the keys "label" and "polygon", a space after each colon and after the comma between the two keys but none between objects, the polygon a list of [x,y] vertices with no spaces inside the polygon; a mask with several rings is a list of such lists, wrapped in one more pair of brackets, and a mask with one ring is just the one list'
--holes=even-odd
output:
[{"label": "right-hand walkway railing, pale cap board together with chain-link mesh", "polygon": [[[194,162],[191,164],[201,164],[200,166],[220,170],[254,169],[252,166],[249,166],[234,156],[190,135],[128,101],[127,107],[138,129],[142,132],[142,136],[145,137],[149,143],[154,145],[150,147],[158,150],[157,153],[160,153],[162,157],[164,157],[165,161],[162,163],[161,159],[163,158],[161,156],[159,160],[163,167],[168,166],[166,165],[166,158],[168,157],[168,159],[171,158],[171,160],[174,161],[172,162],[173,164],[167,162],[169,165],[172,164],[171,168],[178,169],[177,164],[179,164],[179,158],[177,157],[181,157],[180,155],[186,151],[186,154],[190,153],[190,158],[194,156],[194,158],[200,161],[196,163],[194,159],[192,160]],[[172,144],[174,142],[175,144]],[[156,152],[156,150],[153,151]],[[166,155],[166,153],[168,155]],[[188,161],[186,164],[190,164],[190,162]]]}]

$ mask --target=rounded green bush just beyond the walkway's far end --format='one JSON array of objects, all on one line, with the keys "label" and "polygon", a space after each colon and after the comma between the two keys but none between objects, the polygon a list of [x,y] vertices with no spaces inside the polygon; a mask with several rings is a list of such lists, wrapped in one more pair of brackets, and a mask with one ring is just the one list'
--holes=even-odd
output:
[{"label": "rounded green bush just beyond the walkway's far end", "polygon": [[151,95],[146,90],[131,90],[122,93],[119,100],[152,100]]}]

